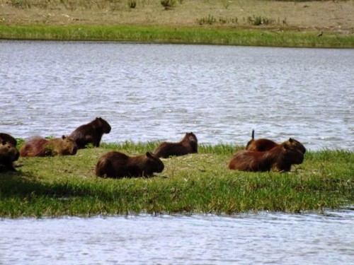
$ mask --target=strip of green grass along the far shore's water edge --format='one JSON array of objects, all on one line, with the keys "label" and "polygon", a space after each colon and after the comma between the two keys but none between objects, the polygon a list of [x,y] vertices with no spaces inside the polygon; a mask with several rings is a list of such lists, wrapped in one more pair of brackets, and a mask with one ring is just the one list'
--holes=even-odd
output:
[{"label": "strip of green grass along the far shore's water edge", "polygon": [[354,47],[354,35],[258,29],[161,28],[132,25],[0,25],[0,39],[95,40],[269,47]]}]

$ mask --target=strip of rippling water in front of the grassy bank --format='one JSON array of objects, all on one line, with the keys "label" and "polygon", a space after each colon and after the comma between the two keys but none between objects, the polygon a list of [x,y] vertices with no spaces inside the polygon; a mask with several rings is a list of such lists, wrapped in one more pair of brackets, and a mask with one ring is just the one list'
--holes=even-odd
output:
[{"label": "strip of rippling water in front of the grassy bank", "polygon": [[4,264],[353,264],[354,211],[2,219]]}]

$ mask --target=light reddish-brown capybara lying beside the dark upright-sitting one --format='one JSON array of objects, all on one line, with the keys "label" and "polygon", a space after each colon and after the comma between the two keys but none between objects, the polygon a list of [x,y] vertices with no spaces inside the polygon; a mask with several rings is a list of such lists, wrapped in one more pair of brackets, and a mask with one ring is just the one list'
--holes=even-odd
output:
[{"label": "light reddish-brown capybara lying beside the dark upright-sitting one", "polygon": [[47,140],[41,136],[34,136],[20,148],[21,156],[55,156],[75,155],[77,145],[70,136]]}]

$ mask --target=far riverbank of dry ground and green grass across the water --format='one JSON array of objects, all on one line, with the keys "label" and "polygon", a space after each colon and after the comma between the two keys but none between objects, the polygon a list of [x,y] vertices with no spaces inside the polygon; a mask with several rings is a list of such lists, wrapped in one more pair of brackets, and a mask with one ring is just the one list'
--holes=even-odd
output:
[{"label": "far riverbank of dry ground and green grass across the water", "polygon": [[0,38],[354,47],[348,1],[0,1]]}]

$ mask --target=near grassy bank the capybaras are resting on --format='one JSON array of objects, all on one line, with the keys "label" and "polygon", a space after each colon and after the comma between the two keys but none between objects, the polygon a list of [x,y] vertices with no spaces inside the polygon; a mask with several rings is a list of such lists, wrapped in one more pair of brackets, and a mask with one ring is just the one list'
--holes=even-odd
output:
[{"label": "near grassy bank the capybaras are resting on", "polygon": [[240,147],[200,146],[200,153],[164,159],[155,177],[103,179],[99,155],[137,154],[157,143],[104,144],[55,158],[20,158],[18,172],[0,174],[0,216],[94,216],[129,213],[323,211],[354,204],[354,153],[309,151],[290,173],[227,169]]}]

